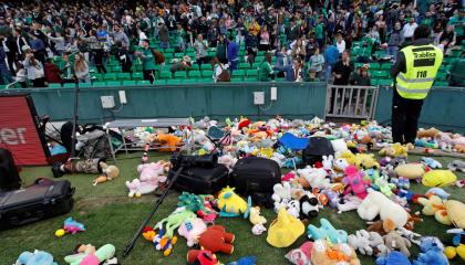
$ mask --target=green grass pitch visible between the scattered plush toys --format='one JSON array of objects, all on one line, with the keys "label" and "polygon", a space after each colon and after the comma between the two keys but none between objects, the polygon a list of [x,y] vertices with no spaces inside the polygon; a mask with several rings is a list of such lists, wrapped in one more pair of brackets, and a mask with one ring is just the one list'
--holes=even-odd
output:
[{"label": "green grass pitch visible between the scattered plush toys", "polygon": [[[142,221],[149,213],[156,198],[146,195],[141,199],[127,198],[127,191],[124,186],[126,180],[136,178],[135,168],[140,162],[140,153],[130,155],[134,158],[126,158],[121,155],[117,166],[121,170],[121,177],[97,187],[92,186],[94,176],[66,176],[68,179],[76,188],[75,206],[71,213],[64,216],[58,216],[23,227],[0,232],[2,243],[0,246],[0,265],[13,264],[18,255],[23,251],[43,250],[52,253],[59,264],[64,264],[63,257],[72,253],[74,246],[80,243],[93,244],[100,246],[112,243],[116,246],[117,256],[121,264],[185,264],[187,252],[186,241],[179,237],[175,246],[174,253],[169,257],[162,257],[161,253],[155,251],[153,246],[141,239],[135,245],[132,254],[127,258],[122,258],[122,253],[126,242],[132,237],[133,233],[140,226]],[[167,159],[166,155],[151,153],[151,160]],[[416,161],[420,157],[410,156],[409,160]],[[447,165],[451,159],[440,158],[441,162]],[[27,168],[22,171],[22,178],[25,184],[31,183],[39,177],[52,178],[51,170],[43,168]],[[458,174],[465,178],[464,173]],[[425,192],[426,187],[413,184],[412,191]],[[453,199],[465,201],[463,190],[454,187],[445,188],[452,194]],[[155,224],[157,220],[167,216],[176,206],[178,193],[170,194],[161,206],[151,224]],[[413,211],[420,210],[420,206],[413,206]],[[264,215],[268,219],[268,223],[276,216],[271,210],[262,210]],[[66,216],[73,216],[86,226],[86,232],[75,235],[65,235],[56,239],[54,231],[63,225]],[[311,223],[318,224],[320,218],[327,218],[337,229],[344,229],[348,233],[366,227],[365,223],[358,216],[355,211],[338,214],[337,212],[324,209],[319,216],[311,220]],[[258,257],[258,264],[288,264],[285,254],[299,246],[306,241],[306,236],[301,236],[291,247],[275,248],[266,242],[266,233],[261,236],[254,236],[250,232],[251,224],[248,220],[218,219],[218,224],[223,224],[230,232],[236,233],[235,253],[230,256],[218,255],[220,262],[227,263],[238,259],[242,256],[255,255]],[[451,236],[445,234],[448,226],[442,225],[434,220],[433,216],[425,216],[424,222],[417,224],[415,232],[422,235],[438,236],[444,243],[451,241]],[[413,256],[416,256],[418,250],[412,247]],[[359,254],[362,264],[373,264],[372,257]],[[452,264],[459,264],[455,259]]]}]

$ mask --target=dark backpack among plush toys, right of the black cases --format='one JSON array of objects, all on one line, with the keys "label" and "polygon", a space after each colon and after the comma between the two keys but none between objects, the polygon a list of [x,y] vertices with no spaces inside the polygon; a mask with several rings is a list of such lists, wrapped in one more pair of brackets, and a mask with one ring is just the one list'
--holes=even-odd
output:
[{"label": "dark backpack among plush toys, right of the black cases", "polygon": [[334,156],[331,141],[324,137],[310,137],[309,145],[302,151],[302,161],[304,165],[313,166],[323,160],[323,156]]}]

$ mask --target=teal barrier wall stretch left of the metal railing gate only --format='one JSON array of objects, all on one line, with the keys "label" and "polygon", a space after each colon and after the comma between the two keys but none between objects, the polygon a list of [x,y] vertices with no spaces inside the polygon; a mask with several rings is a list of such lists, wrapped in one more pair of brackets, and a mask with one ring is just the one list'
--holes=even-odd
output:
[{"label": "teal barrier wall stretch left of the metal railing gate only", "polygon": [[[270,102],[270,87],[277,87],[278,99]],[[310,119],[323,117],[324,83],[242,83],[195,84],[176,86],[85,87],[80,91],[79,119],[101,123],[115,118],[196,117],[226,118],[248,116],[268,118],[285,115]],[[118,91],[126,92],[127,104],[121,106]],[[14,89],[28,92],[39,115],[52,120],[71,119],[73,88]],[[254,92],[265,92],[265,105],[254,105]],[[114,96],[115,108],[103,109],[101,96]]]}]

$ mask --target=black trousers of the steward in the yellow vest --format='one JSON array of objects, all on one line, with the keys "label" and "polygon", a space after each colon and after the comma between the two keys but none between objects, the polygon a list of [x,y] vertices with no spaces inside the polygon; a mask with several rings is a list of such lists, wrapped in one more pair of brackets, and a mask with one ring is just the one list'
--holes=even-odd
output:
[{"label": "black trousers of the steward in the yellow vest", "polygon": [[406,99],[394,88],[392,96],[392,139],[394,142],[415,142],[423,99]]}]

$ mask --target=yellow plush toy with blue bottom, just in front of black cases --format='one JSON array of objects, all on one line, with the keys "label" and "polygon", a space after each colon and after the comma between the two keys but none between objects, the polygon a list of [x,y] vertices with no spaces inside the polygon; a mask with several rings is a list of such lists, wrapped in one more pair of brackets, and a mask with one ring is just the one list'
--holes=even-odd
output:
[{"label": "yellow plush toy with blue bottom, just in front of black cases", "polygon": [[240,198],[236,192],[235,188],[227,186],[223,188],[218,194],[218,208],[221,210],[219,216],[237,216],[245,214],[246,218],[249,213],[249,204]]}]

